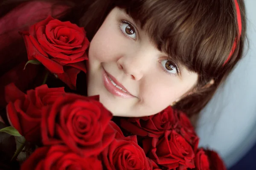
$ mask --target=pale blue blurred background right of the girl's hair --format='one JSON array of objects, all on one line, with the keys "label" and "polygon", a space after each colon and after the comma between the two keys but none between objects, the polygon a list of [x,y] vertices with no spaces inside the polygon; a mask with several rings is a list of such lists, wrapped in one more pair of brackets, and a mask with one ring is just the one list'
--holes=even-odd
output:
[{"label": "pale blue blurred background right of the girl's hair", "polygon": [[230,170],[256,170],[256,0],[244,0],[249,46],[199,114],[200,146],[220,153]]}]

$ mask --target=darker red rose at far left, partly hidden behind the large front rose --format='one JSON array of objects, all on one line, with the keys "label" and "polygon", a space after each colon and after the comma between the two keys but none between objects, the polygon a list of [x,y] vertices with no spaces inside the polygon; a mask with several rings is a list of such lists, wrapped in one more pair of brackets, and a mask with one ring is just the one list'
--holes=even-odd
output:
[{"label": "darker red rose at far left, partly hidden behind the large front rose", "polygon": [[64,95],[64,88],[48,88],[41,85],[35,90],[21,92],[14,84],[5,88],[7,116],[10,124],[29,142],[39,142],[41,110],[52,105],[56,98]]}]

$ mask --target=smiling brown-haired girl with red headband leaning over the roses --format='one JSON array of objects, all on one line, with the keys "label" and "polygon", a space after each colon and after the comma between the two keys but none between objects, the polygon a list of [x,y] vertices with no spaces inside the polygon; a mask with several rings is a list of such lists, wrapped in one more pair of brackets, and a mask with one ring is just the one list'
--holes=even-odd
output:
[{"label": "smiling brown-haired girl with red headband leaning over the roses", "polygon": [[[168,105],[198,113],[241,59],[246,37],[243,0],[1,0],[0,8],[1,90],[19,82],[6,75],[26,61],[16,32],[51,14],[87,31],[87,95],[99,94],[114,116]],[[25,90],[36,74],[22,76]]]}]

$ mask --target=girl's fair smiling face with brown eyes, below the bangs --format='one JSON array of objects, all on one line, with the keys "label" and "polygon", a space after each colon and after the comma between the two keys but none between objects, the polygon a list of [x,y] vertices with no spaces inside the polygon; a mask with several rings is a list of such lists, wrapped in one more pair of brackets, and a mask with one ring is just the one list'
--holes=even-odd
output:
[{"label": "girl's fair smiling face with brown eyes, below the bangs", "polygon": [[114,116],[156,114],[186,95],[198,74],[159,51],[145,30],[114,8],[89,48],[88,95]]}]

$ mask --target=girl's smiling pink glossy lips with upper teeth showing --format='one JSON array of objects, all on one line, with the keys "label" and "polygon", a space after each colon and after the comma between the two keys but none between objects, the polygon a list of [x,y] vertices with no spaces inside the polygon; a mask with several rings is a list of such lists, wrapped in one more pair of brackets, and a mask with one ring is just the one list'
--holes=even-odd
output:
[{"label": "girl's smiling pink glossy lips with upper teeth showing", "polygon": [[102,71],[102,79],[105,88],[114,96],[119,96],[125,99],[135,97],[131,95],[129,91],[115,79],[115,77],[113,77],[111,74],[105,71],[104,68]]}]

